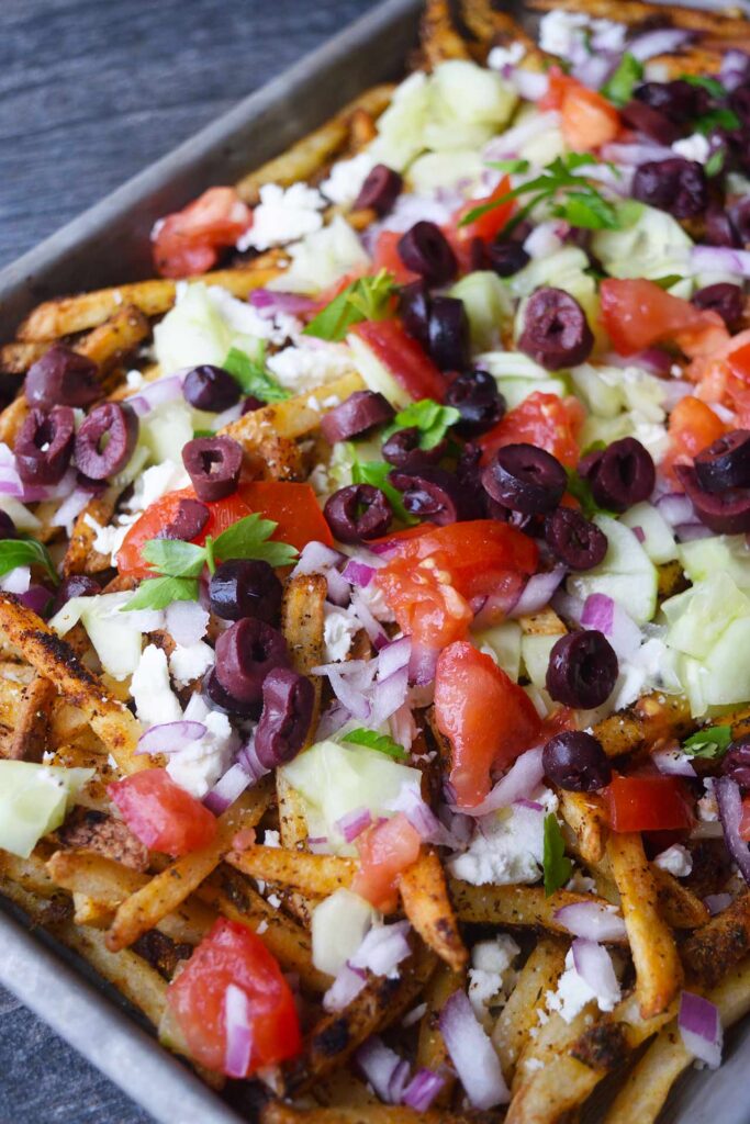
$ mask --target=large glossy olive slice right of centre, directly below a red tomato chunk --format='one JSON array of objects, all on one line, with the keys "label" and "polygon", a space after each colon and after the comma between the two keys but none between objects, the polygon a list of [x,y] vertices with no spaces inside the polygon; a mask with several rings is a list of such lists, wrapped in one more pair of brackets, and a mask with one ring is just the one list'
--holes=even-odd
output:
[{"label": "large glossy olive slice right of centre, directly below a red tomato chunk", "polygon": [[498,448],[481,478],[491,499],[524,515],[554,510],[567,479],[557,457],[525,443]]}]

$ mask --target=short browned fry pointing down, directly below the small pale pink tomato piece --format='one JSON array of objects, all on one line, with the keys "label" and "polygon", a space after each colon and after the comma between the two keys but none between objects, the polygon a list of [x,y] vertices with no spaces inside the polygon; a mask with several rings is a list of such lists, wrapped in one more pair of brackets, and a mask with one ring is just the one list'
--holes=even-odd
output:
[{"label": "short browned fry pointing down, directly below the small pale pink tomato piece", "polygon": [[469,953],[448,896],[445,872],[434,851],[423,851],[398,880],[404,913],[425,944],[454,972],[462,971]]}]

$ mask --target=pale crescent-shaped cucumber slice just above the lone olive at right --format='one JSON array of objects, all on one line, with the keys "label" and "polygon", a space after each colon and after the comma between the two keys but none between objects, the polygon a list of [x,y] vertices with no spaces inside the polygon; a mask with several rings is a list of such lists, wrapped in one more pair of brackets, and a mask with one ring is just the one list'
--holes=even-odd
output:
[{"label": "pale crescent-shaped cucumber slice just above the lone olive at right", "polygon": [[657,609],[658,573],[630,529],[606,515],[594,518],[607,536],[607,553],[600,565],[568,579],[568,590],[581,600],[590,593],[612,597],[635,624],[643,625]]}]

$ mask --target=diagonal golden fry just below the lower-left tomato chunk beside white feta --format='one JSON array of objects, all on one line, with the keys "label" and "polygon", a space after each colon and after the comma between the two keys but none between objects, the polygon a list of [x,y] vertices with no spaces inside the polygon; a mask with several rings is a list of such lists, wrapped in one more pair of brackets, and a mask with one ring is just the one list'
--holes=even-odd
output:
[{"label": "diagonal golden fry just below the lower-left tomato chunk beside white feta", "polygon": [[107,948],[112,952],[127,948],[146,930],[157,925],[162,917],[173,913],[216,869],[231,850],[237,832],[255,826],[268,807],[269,798],[269,786],[263,783],[244,792],[219,816],[216,835],[208,846],[177,859],[126,898],[107,933]]}]

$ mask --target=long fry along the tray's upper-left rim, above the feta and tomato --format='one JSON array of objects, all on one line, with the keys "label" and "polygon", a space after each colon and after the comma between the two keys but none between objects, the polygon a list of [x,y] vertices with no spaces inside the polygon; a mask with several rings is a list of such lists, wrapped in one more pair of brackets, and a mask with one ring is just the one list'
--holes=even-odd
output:
[{"label": "long fry along the tray's upper-left rim, above the feta and tomato", "polygon": [[392,85],[376,85],[359,94],[335,117],[302,137],[281,156],[243,176],[236,184],[240,196],[245,202],[254,205],[260,199],[260,189],[264,183],[280,183],[287,188],[299,180],[310,179],[346,144],[352,115],[363,109],[372,117],[379,117],[389,105],[394,89]]}]

